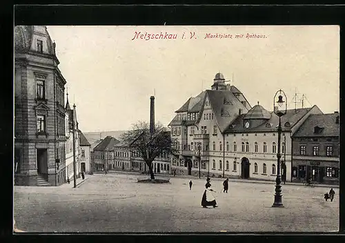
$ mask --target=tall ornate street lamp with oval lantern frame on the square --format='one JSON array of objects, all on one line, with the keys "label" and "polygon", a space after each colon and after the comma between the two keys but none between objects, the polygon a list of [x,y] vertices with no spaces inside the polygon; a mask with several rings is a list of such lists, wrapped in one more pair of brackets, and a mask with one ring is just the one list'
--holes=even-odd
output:
[{"label": "tall ornate street lamp with oval lantern frame on the square", "polygon": [[[276,97],[278,97],[276,101]],[[278,125],[278,153],[277,153],[277,178],[275,179],[275,202],[273,203],[273,207],[284,207],[282,202],[282,175],[280,171],[280,158],[282,155],[280,154],[280,139],[282,135],[282,122],[281,117],[286,114],[287,110],[287,102],[286,102],[286,95],[283,90],[278,90],[275,93],[275,98],[273,100],[273,108],[274,113],[279,117],[279,125]]]}]

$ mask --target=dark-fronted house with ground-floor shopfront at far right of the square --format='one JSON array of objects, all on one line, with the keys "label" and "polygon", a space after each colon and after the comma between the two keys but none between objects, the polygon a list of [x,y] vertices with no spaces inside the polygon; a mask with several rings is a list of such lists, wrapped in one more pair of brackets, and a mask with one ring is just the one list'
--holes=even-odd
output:
[{"label": "dark-fronted house with ground-floor shopfront at far right of the square", "polygon": [[339,113],[311,115],[293,135],[293,181],[339,184]]}]

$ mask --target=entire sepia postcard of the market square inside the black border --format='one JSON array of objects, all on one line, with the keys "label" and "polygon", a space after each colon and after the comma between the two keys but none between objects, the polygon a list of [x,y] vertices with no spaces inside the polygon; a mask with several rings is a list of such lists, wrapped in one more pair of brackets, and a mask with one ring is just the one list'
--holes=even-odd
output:
[{"label": "entire sepia postcard of the market square inside the black border", "polygon": [[339,26],[15,26],[14,230],[335,232],[339,127]]}]

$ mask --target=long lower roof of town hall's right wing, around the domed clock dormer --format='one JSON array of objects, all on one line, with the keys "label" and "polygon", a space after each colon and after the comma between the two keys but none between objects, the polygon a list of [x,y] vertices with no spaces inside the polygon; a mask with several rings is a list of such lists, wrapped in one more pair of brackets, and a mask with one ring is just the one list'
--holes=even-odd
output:
[{"label": "long lower roof of town hall's right wing, around the domed clock dormer", "polygon": [[[290,130],[297,122],[299,122],[311,108],[299,108],[286,110],[286,114],[282,116],[282,130]],[[244,120],[246,114],[239,115],[232,124],[226,129],[226,133],[255,133],[255,132],[270,132],[276,131],[279,124],[279,117],[275,113],[270,112],[270,119],[263,121],[262,124],[255,127],[244,128]]]}]

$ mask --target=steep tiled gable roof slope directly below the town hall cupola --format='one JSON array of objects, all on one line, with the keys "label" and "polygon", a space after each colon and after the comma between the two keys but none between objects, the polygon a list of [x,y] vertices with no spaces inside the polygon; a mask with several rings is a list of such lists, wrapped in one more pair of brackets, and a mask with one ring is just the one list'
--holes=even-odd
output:
[{"label": "steep tiled gable roof slope directly below the town hall cupola", "polygon": [[[215,121],[222,133],[233,122],[234,115],[238,113],[237,107],[241,106],[241,102],[228,90],[206,90],[206,93],[215,114]],[[224,99],[230,104],[224,104]]]}]

